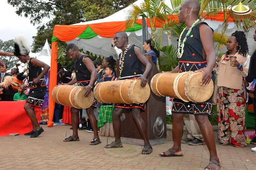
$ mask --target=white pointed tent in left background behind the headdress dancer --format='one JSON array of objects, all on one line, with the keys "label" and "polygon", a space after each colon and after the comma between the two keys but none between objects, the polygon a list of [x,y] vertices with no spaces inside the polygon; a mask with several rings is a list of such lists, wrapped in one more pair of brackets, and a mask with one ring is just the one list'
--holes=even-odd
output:
[{"label": "white pointed tent in left background behind the headdress dancer", "polygon": [[[48,41],[46,40],[41,52],[36,52],[36,53],[30,52],[29,56],[36,58],[40,61],[43,61],[44,63],[46,63],[48,65],[51,65],[51,48],[49,46]],[[18,66],[19,72],[23,72],[23,70],[27,67],[25,66],[24,63],[21,63],[20,61],[18,63],[20,64],[20,66]],[[16,68],[16,66],[14,65],[12,68]],[[11,69],[9,69],[7,72],[11,72]]]}]

